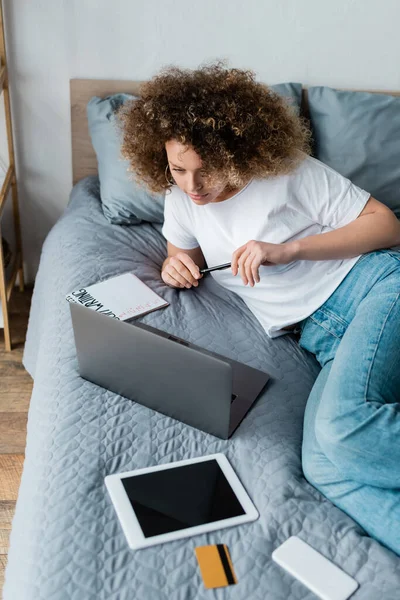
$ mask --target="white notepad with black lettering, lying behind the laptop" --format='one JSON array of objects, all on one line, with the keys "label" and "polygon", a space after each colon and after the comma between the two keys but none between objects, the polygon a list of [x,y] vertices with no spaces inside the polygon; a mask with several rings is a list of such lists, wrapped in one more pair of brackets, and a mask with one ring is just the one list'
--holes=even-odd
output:
[{"label": "white notepad with black lettering, lying behind the laptop", "polygon": [[169,304],[131,272],[81,287],[67,294],[66,300],[119,321],[145,315]]}]

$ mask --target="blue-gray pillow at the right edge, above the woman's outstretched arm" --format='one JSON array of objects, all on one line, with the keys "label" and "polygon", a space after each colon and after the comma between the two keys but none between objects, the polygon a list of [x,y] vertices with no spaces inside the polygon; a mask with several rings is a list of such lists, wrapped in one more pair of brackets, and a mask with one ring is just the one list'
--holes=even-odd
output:
[{"label": "blue-gray pillow at the right edge, above the woman's outstretched arm", "polygon": [[315,156],[400,218],[400,97],[308,90]]}]

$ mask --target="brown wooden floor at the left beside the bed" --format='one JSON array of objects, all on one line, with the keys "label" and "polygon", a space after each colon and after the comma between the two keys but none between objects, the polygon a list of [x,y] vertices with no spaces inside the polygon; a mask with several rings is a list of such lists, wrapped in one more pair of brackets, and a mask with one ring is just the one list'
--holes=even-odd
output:
[{"label": "brown wooden floor at the left beside the bed", "polygon": [[11,297],[12,352],[4,351],[0,329],[0,596],[7,562],[8,538],[24,463],[26,422],[32,379],[22,366],[32,290]]}]

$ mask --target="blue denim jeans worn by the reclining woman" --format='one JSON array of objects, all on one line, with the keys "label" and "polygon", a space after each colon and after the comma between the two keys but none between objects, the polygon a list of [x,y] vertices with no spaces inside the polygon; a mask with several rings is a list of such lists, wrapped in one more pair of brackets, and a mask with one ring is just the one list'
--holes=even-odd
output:
[{"label": "blue denim jeans worn by the reclining woman", "polygon": [[400,252],[363,255],[301,324],[322,370],[304,416],[306,479],[400,555]]}]

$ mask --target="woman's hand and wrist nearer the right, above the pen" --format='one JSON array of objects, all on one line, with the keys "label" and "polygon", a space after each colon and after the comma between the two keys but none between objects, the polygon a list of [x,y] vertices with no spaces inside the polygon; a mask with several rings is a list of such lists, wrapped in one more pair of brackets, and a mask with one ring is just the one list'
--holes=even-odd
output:
[{"label": "woman's hand and wrist nearer the right, above the pen", "polygon": [[232,254],[232,273],[239,273],[244,285],[249,283],[253,287],[260,281],[260,265],[286,265],[295,258],[294,246],[289,243],[269,244],[251,240]]}]

